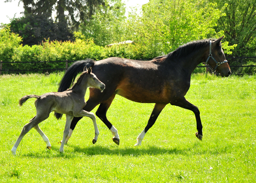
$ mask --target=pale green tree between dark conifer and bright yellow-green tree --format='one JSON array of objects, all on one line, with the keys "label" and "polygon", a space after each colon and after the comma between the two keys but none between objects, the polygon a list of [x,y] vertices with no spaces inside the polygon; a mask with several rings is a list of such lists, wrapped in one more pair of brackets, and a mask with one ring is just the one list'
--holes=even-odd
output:
[{"label": "pale green tree between dark conifer and bright yellow-green tree", "polygon": [[93,38],[96,45],[101,46],[126,41],[130,31],[124,25],[124,3],[121,0],[105,0],[104,4],[105,6],[99,6],[89,22],[80,25],[80,32],[87,39]]}]

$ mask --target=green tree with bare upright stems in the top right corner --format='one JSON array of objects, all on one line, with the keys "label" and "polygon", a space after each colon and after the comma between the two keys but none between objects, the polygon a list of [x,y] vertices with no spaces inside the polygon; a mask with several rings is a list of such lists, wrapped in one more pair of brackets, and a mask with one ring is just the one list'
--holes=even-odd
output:
[{"label": "green tree with bare upright stems in the top right corner", "polygon": [[238,46],[233,56],[256,56],[256,0],[212,0],[226,16],[218,20],[216,31],[224,30],[225,40]]}]

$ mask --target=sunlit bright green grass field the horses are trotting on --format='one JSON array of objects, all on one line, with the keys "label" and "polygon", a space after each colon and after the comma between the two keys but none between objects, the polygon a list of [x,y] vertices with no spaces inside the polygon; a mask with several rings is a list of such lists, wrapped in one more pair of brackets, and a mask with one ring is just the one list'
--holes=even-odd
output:
[{"label": "sunlit bright green grass field the horses are trotting on", "polygon": [[[120,146],[97,118],[100,135],[93,145],[89,118],[76,126],[59,153],[65,117],[53,114],[39,126],[52,150],[32,129],[14,157],[10,152],[24,124],[36,114],[34,100],[22,107],[26,94],[56,91],[63,73],[0,76],[0,182],[254,182],[256,180],[256,76],[221,78],[194,75],[187,100],[198,106],[203,141],[196,136],[191,111],[167,105],[142,146],[136,138],[147,124],[154,104],[116,96],[108,119],[118,129]],[[88,94],[87,96],[88,97]],[[96,109],[93,110],[95,113]]]}]

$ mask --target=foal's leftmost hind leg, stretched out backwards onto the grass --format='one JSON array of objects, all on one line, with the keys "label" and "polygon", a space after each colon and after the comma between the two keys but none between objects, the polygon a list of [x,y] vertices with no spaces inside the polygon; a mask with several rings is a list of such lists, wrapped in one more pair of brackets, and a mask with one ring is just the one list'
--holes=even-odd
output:
[{"label": "foal's leftmost hind leg, stretched out backwards onto the grass", "polygon": [[34,128],[36,125],[38,125],[40,122],[46,120],[49,117],[49,114],[44,114],[43,116],[40,114],[36,114],[36,116],[34,118],[32,118],[30,120],[30,122],[28,124],[25,124],[20,136],[18,137],[18,139],[16,140],[14,146],[12,147],[12,154],[15,155],[16,154],[16,150],[22,140],[22,138],[31,130],[31,128]]}]

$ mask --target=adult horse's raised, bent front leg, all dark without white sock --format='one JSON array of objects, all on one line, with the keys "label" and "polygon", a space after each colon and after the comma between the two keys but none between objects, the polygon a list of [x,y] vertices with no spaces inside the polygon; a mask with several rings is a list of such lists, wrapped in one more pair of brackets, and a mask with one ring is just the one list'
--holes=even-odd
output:
[{"label": "adult horse's raised, bent front leg, all dark without white sock", "polygon": [[181,97],[181,98],[176,97],[175,99],[170,101],[170,104],[175,105],[175,106],[179,106],[179,107],[182,107],[182,108],[185,108],[185,109],[188,109],[188,110],[191,110],[191,111],[194,112],[194,114],[196,116],[196,128],[197,128],[197,131],[198,131],[198,132],[196,132],[196,137],[199,140],[202,140],[202,138],[203,138],[203,132],[202,132],[203,126],[202,126],[202,122],[201,122],[201,118],[200,118],[200,111],[199,111],[198,107],[191,104],[190,102],[188,102],[188,100],[186,100],[185,97]]}]

